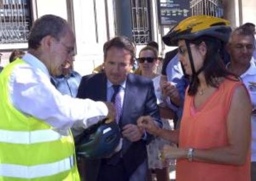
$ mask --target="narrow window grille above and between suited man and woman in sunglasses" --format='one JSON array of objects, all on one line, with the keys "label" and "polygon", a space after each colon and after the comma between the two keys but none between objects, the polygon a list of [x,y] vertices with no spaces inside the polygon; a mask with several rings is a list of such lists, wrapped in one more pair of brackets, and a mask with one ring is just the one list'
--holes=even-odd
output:
[{"label": "narrow window grille above and between suited man and woman in sunglasses", "polygon": [[135,44],[147,44],[151,39],[148,0],[131,0],[132,36]]}]

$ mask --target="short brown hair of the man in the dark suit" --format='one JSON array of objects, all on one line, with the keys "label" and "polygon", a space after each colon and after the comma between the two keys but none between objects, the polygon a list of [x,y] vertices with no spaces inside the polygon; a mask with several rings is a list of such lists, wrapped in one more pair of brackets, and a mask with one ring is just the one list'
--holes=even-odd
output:
[{"label": "short brown hair of the man in the dark suit", "polygon": [[120,49],[126,49],[130,52],[131,55],[131,63],[134,63],[134,58],[135,58],[135,48],[132,42],[130,41],[129,38],[126,36],[116,36],[115,38],[109,40],[104,44],[103,51],[104,51],[104,58],[106,59],[106,55],[108,50],[111,47],[117,47]]}]

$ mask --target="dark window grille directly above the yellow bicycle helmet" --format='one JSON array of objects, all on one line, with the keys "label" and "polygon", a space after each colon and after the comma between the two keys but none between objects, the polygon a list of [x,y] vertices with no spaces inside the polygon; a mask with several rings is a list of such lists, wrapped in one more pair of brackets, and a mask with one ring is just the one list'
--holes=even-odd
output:
[{"label": "dark window grille directly above the yellow bicycle helmet", "polygon": [[190,8],[192,15],[223,17],[223,4],[220,0],[192,0]]}]

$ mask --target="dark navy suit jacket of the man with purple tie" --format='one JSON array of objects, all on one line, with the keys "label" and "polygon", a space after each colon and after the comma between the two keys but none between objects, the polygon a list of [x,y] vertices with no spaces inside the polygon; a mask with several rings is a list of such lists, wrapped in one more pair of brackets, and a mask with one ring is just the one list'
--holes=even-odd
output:
[{"label": "dark navy suit jacket of the man with purple tie", "polygon": [[[106,101],[106,91],[106,74],[91,74],[83,76],[77,97]],[[153,82],[136,74],[128,74],[119,127],[122,129],[126,124],[137,124],[137,119],[142,115],[152,116],[161,125]],[[150,142],[151,138],[151,135],[147,133],[146,140],[139,140],[138,142],[123,140],[121,153],[117,154],[117,156],[123,156],[124,167],[128,175],[131,175],[147,158],[146,144]],[[85,161],[85,180],[96,180],[99,167],[100,160],[87,159]]]}]

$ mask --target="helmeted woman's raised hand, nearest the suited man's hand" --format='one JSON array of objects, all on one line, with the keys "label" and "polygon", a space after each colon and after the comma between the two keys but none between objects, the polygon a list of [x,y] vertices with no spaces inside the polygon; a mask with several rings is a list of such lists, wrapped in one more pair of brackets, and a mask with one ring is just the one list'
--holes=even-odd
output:
[{"label": "helmeted woman's raised hand, nearest the suited man's hand", "polygon": [[137,124],[141,129],[145,129],[153,135],[157,135],[160,129],[160,127],[156,126],[151,116],[140,116],[137,120]]}]

